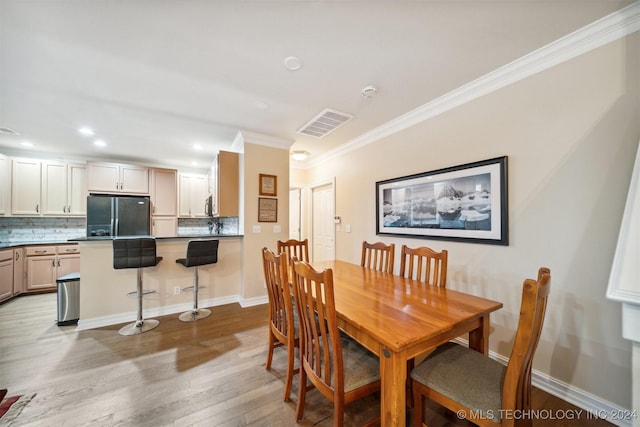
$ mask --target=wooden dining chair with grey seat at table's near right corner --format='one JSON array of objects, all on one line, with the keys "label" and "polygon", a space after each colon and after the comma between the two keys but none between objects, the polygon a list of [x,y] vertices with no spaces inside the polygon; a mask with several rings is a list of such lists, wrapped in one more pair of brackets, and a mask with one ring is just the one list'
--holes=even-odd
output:
[{"label": "wooden dining chair with grey seat at table's near right corner", "polygon": [[[479,426],[511,427],[513,414],[531,409],[531,365],[550,287],[551,273],[546,267],[538,270],[537,280],[524,281],[520,320],[507,366],[453,342],[436,348],[416,366],[411,372],[417,397],[414,425],[423,425],[423,396]],[[508,414],[512,416],[504,416]]]}]

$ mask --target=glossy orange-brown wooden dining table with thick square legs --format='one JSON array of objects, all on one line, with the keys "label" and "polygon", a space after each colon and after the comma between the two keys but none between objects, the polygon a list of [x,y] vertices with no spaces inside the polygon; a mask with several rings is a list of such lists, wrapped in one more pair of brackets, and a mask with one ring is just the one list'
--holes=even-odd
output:
[{"label": "glossy orange-brown wooden dining table with thick square legs", "polygon": [[489,314],[502,303],[344,261],[333,270],[338,326],[380,358],[382,426],[406,425],[407,360],[468,333],[487,354]]}]

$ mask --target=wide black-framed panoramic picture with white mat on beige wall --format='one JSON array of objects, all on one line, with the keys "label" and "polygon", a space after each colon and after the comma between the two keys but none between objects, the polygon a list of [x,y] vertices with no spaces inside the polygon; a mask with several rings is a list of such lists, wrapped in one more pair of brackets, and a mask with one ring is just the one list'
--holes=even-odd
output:
[{"label": "wide black-framed panoramic picture with white mat on beige wall", "polygon": [[376,234],[508,245],[507,156],[376,182]]}]

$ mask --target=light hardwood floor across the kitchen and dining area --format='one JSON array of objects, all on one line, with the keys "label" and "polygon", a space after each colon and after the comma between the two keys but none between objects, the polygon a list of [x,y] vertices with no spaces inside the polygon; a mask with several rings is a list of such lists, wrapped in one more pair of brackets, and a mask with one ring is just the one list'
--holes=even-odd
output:
[{"label": "light hardwood floor across the kitchen and dining area", "polygon": [[[159,317],[153,331],[123,337],[120,325],[57,326],[55,294],[9,301],[0,305],[0,388],[9,396],[37,393],[13,426],[332,425],[331,404],[313,391],[296,424],[297,376],[292,400],[282,401],[285,350],[276,349],[271,371],[264,368],[267,315],[264,305],[230,304],[193,323]],[[573,408],[539,390],[534,407]],[[376,397],[348,405],[346,425],[361,425],[379,409]],[[471,425],[433,405],[426,417],[433,427]],[[606,423],[534,422],[552,425]]]}]

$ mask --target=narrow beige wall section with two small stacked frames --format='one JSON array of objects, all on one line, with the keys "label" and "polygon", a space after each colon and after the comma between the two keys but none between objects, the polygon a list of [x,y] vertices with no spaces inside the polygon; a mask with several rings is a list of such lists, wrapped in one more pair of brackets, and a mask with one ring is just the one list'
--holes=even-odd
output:
[{"label": "narrow beige wall section with two small stacked frames", "polygon": [[[278,177],[278,222],[258,222],[258,197],[260,174]],[[261,231],[254,233],[253,227]],[[280,231],[274,231],[279,226]],[[275,251],[278,240],[289,236],[289,150],[266,147],[245,141],[244,144],[244,288],[241,295],[245,301],[266,297],[261,250],[268,247]]]}]

